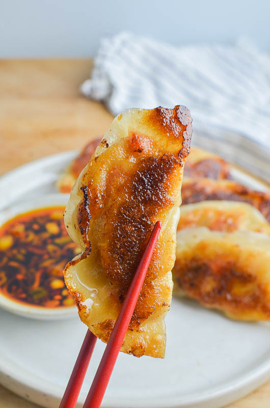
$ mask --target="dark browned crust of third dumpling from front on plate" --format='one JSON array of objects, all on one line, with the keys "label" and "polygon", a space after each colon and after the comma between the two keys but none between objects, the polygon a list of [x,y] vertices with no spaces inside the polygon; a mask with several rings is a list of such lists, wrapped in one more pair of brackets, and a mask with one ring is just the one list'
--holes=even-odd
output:
[{"label": "dark browned crust of third dumpling from front on plate", "polygon": [[181,196],[183,204],[205,200],[248,202],[270,222],[270,192],[255,191],[231,180],[184,179]]}]

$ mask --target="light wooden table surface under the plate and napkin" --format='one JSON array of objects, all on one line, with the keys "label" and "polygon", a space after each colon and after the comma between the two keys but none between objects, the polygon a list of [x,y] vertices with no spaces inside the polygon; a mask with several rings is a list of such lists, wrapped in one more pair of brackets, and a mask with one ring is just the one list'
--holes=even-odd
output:
[{"label": "light wooden table surface under the plate and napkin", "polygon": [[[112,115],[78,92],[91,65],[91,60],[0,61],[0,174],[82,147],[105,132]],[[227,408],[269,406],[270,381]],[[35,407],[0,386],[0,408]]]}]

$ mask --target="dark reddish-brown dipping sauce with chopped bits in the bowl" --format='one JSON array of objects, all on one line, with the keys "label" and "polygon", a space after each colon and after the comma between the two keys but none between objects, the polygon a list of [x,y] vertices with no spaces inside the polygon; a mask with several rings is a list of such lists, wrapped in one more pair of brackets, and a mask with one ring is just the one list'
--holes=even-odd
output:
[{"label": "dark reddish-brown dipping sauce with chopped bits in the bowl", "polygon": [[0,228],[0,293],[35,307],[74,306],[63,269],[81,251],[66,232],[64,210],[34,210]]}]

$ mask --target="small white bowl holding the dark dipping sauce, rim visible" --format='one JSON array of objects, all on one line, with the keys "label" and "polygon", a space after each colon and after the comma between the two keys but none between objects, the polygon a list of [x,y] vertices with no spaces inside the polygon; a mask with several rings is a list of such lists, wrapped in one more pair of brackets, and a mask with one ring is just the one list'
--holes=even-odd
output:
[{"label": "small white bowl holding the dark dipping sauce, rim visible", "polygon": [[[19,205],[11,206],[0,212],[0,227],[16,217],[28,211],[38,210],[47,207],[66,206],[69,194],[47,194],[31,199],[31,201],[22,201]],[[35,305],[21,303],[12,300],[0,292],[0,307],[23,317],[37,320],[61,320],[77,316],[77,308],[44,308]]]}]

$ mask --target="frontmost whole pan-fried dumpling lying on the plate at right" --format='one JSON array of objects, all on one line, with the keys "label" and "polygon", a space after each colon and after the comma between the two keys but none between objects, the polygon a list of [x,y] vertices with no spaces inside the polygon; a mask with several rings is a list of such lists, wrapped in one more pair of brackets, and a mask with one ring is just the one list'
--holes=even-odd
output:
[{"label": "frontmost whole pan-fried dumpling lying on the plate at right", "polygon": [[270,238],[206,227],[177,233],[175,291],[238,320],[270,320]]}]

